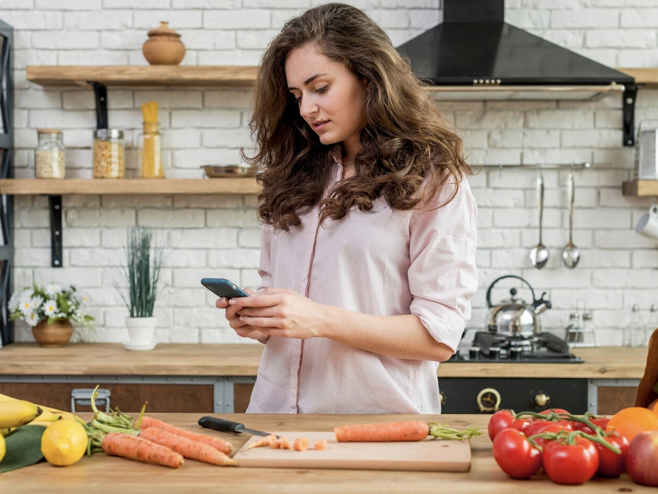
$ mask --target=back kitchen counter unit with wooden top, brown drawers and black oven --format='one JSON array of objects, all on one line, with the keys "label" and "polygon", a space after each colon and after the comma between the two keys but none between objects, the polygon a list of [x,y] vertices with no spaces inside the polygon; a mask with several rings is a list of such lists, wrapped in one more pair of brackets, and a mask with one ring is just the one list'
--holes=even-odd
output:
[{"label": "back kitchen counter unit with wooden top, brown drawers and black oven", "polygon": [[[71,389],[101,384],[118,386],[116,391],[110,388],[111,403],[125,411],[127,406],[141,408],[143,400],[149,399],[148,410],[152,412],[243,412],[249,404],[262,351],[260,344],[158,344],[152,351],[130,352],[127,358],[127,351],[117,343],[75,343],[59,349],[14,343],[0,349],[0,392],[10,389],[5,386],[20,384],[25,388],[12,390],[32,393],[24,396],[38,403],[53,403],[50,399],[38,399],[39,396],[60,394],[60,400],[68,403]],[[604,347],[573,351],[585,362],[440,364],[438,379],[445,400],[443,411],[490,414],[488,410],[480,412],[477,401],[480,392],[487,388],[500,395],[500,408],[514,410],[559,407],[574,412],[612,414],[635,403],[635,389],[644,374],[646,349],[624,348],[620,352],[617,348]],[[62,384],[68,387],[47,395],[49,387]],[[143,387],[131,387],[136,385]],[[188,389],[181,391],[182,388]],[[147,396],[151,393],[153,398]],[[125,405],[124,399],[134,401]],[[480,401],[489,405],[492,399],[495,404],[493,392],[480,397]],[[544,400],[546,403],[541,405]]]}]

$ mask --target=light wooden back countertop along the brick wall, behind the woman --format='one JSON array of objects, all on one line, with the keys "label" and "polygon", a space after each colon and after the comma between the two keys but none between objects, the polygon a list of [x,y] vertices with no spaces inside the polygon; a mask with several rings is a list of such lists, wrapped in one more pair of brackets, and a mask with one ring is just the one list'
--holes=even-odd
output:
[{"label": "light wooden back countertop along the brick wall, behind the woman", "polygon": [[[254,376],[260,344],[158,344],[152,351],[127,351],[116,343],[77,343],[42,349],[14,343],[0,349],[0,375]],[[580,364],[447,362],[439,377],[559,377],[641,379],[646,348],[574,349]]]}]

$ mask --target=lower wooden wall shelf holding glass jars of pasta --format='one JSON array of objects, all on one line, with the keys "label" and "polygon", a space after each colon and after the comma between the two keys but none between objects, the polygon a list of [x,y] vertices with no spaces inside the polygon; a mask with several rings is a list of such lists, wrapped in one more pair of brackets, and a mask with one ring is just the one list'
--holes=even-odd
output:
[{"label": "lower wooden wall shelf holding glass jars of pasta", "polygon": [[256,178],[5,178],[0,193],[10,196],[45,194],[255,194]]}]

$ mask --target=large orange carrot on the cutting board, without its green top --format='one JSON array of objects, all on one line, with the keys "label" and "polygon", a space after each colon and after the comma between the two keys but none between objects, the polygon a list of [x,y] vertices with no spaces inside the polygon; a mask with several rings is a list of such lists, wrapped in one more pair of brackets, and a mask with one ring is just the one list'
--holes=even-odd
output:
[{"label": "large orange carrot on the cutting board, without its green top", "polygon": [[376,443],[423,440],[430,433],[430,428],[421,421],[406,421],[343,425],[334,427],[334,433],[339,443]]}]

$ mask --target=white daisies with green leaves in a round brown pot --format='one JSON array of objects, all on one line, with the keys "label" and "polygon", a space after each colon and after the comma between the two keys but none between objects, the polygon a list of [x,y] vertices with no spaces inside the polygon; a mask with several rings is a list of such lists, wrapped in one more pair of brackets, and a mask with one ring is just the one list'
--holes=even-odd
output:
[{"label": "white daisies with green leaves in a round brown pot", "polygon": [[73,323],[90,326],[94,320],[82,311],[86,301],[86,296],[78,294],[72,285],[35,283],[12,294],[9,318],[22,320],[31,327],[40,346],[64,346],[73,334]]}]

